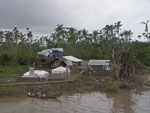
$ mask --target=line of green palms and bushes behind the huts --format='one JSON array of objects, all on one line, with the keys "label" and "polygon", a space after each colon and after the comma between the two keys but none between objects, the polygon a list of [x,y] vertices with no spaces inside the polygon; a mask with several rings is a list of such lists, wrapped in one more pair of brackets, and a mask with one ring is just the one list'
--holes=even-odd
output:
[{"label": "line of green palms and bushes behind the huts", "polygon": [[[148,22],[145,31],[137,38],[149,39]],[[64,55],[73,55],[84,60],[111,59],[112,49],[117,51],[132,46],[132,58],[150,65],[150,43],[132,41],[132,31],[122,30],[122,23],[106,25],[101,30],[89,32],[57,25],[49,36],[33,38],[32,31],[27,28],[24,34],[18,28],[12,31],[0,31],[0,65],[27,65],[29,60],[37,58],[37,52],[46,48],[61,47]],[[42,46],[46,44],[46,46]]]}]

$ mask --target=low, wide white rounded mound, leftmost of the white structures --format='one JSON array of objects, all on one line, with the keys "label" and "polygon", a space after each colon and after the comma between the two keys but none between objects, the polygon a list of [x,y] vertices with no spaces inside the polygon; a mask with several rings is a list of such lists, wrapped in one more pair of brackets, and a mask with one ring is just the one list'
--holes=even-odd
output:
[{"label": "low, wide white rounded mound, leftmost of the white structures", "polygon": [[47,71],[42,71],[42,70],[34,70],[34,75],[30,75],[29,71],[26,72],[22,77],[47,77],[49,73]]}]

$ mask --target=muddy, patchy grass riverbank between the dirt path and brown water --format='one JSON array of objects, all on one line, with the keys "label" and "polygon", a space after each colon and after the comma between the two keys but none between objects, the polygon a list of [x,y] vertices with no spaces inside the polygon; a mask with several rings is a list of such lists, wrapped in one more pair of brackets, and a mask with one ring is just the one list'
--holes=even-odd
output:
[{"label": "muddy, patchy grass riverbank between the dirt path and brown water", "polygon": [[[57,83],[42,85],[43,90],[48,93],[65,93],[65,92],[89,92],[89,91],[104,91],[104,92],[118,92],[120,88],[141,88],[150,70],[146,69],[136,75],[133,82],[123,85],[115,81],[115,78],[108,73],[83,73],[74,82]],[[0,87],[0,95],[26,95],[29,90],[39,90],[41,85],[27,85],[27,86],[2,86]]]}]

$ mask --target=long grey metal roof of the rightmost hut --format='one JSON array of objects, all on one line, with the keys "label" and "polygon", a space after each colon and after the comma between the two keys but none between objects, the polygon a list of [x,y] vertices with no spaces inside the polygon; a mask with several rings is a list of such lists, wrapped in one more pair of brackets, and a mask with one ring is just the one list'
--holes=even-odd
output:
[{"label": "long grey metal roof of the rightmost hut", "polygon": [[109,65],[110,60],[89,60],[88,65]]}]

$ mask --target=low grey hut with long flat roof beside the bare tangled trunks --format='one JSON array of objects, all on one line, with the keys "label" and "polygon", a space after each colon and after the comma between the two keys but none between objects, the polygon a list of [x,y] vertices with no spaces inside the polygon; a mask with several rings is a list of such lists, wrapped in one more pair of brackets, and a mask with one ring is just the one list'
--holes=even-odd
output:
[{"label": "low grey hut with long flat roof beside the bare tangled trunks", "polygon": [[90,60],[88,66],[95,71],[110,70],[110,60]]}]

